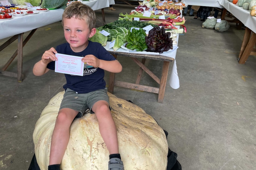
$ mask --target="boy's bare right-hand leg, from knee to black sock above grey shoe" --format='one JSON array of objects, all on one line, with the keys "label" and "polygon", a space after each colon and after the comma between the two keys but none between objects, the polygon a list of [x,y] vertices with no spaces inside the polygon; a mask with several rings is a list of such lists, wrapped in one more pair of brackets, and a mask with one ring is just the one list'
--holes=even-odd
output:
[{"label": "boy's bare right-hand leg, from knee to black sock above grey shoe", "polygon": [[97,101],[92,107],[99,122],[99,132],[108,148],[109,154],[119,153],[116,124],[111,115],[108,102]]}]

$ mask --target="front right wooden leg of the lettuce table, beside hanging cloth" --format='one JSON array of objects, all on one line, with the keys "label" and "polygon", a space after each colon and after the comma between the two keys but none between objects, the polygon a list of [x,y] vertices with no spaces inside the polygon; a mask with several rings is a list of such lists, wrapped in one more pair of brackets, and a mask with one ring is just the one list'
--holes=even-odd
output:
[{"label": "front right wooden leg of the lettuce table, beside hanging cloth", "polygon": [[162,69],[162,77],[160,80],[159,94],[158,94],[158,103],[163,103],[165,96],[165,87],[167,82],[167,75],[169,70],[170,61],[164,61],[163,69]]}]

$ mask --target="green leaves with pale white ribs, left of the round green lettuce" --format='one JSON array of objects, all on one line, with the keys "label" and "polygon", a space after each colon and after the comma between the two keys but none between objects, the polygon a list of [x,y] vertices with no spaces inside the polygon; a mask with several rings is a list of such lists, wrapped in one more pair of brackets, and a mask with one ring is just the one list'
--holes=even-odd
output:
[{"label": "green leaves with pale white ribs, left of the round green lettuce", "polygon": [[126,36],[128,35],[128,30],[125,27],[116,27],[116,29],[103,28],[98,27],[97,30],[102,31],[105,30],[110,35],[108,35],[108,41],[115,41],[113,46],[113,50],[116,51],[120,48],[124,43],[126,43]]}]

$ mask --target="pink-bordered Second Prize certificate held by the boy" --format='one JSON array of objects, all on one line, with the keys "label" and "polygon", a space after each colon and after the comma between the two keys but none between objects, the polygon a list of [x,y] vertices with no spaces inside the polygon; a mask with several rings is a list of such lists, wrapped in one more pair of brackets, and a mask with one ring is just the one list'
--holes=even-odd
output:
[{"label": "pink-bordered Second Prize certificate held by the boy", "polygon": [[59,53],[55,56],[58,58],[55,61],[55,72],[83,76],[84,63],[81,60],[83,57]]}]

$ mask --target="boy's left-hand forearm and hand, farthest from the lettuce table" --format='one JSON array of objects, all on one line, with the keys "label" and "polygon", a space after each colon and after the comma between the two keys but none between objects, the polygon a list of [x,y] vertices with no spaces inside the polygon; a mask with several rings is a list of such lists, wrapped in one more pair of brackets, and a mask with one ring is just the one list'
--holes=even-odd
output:
[{"label": "boy's left-hand forearm and hand, farthest from the lettuce table", "polygon": [[56,53],[57,51],[55,50],[55,48],[50,48],[49,50],[45,51],[45,53],[42,55],[42,59],[34,65],[34,75],[41,76],[47,73],[50,70],[47,68],[47,64],[51,61],[57,60],[55,56]]}]

